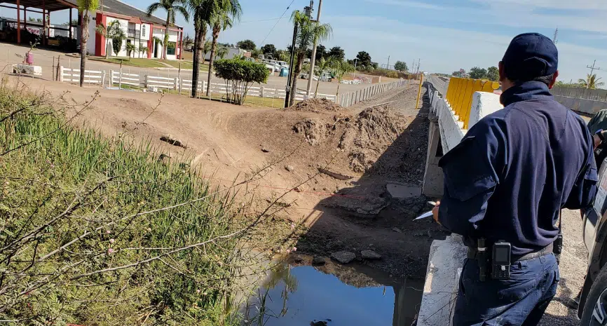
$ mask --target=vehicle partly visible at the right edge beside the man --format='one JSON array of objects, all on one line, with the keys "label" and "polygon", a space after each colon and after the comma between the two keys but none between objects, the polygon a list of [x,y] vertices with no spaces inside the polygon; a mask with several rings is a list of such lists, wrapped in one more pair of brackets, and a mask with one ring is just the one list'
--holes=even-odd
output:
[{"label": "vehicle partly visible at the right edge beside the man", "polygon": [[599,170],[599,190],[592,209],[583,213],[588,268],[580,296],[581,325],[607,325],[607,159]]}]

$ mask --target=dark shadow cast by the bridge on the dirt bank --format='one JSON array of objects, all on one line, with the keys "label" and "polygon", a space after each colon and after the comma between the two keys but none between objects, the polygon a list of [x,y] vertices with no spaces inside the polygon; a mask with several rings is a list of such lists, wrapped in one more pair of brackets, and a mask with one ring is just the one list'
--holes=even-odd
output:
[{"label": "dark shadow cast by the bridge on the dirt bank", "polygon": [[[298,250],[325,257],[353,252],[355,261],[394,276],[425,276],[432,240],[448,233],[430,219],[413,221],[430,209],[427,201],[435,199],[421,195],[430,107],[426,88],[423,92],[421,109],[398,101],[390,104],[408,117],[406,128],[375,162],[368,162],[370,168],[360,179],[346,182],[316,205],[306,221],[311,229],[299,240]],[[376,122],[375,128],[383,128]],[[362,250],[372,250],[381,259],[363,259]]]}]

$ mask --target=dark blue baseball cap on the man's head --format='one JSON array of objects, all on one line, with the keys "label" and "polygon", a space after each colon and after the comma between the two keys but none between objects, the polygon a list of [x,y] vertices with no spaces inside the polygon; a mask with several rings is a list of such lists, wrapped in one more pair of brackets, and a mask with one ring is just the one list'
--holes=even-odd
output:
[{"label": "dark blue baseball cap on the man's head", "polygon": [[502,62],[508,79],[528,81],[557,72],[559,51],[546,36],[525,33],[512,39]]}]

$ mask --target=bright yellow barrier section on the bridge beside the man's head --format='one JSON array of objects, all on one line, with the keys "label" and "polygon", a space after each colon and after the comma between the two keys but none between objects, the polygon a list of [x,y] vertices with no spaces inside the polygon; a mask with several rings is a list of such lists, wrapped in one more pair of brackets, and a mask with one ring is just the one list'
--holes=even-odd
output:
[{"label": "bright yellow barrier section on the bridge beside the man's head", "polygon": [[459,121],[463,121],[464,129],[468,129],[470,121],[470,107],[472,106],[472,95],[475,92],[489,92],[500,88],[496,81],[483,81],[480,79],[451,78],[446,90],[446,102],[451,105]]}]

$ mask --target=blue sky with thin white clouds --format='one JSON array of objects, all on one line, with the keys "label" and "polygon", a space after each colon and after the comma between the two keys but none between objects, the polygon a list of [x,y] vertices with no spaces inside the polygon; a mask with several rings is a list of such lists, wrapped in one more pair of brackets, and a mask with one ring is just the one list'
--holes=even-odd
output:
[{"label": "blue sky with thin white clouds", "polygon": [[[146,8],[152,0],[122,0]],[[309,0],[294,0],[282,20],[276,20],[291,0],[240,0],[243,17],[223,32],[221,42],[252,39],[285,48],[292,36],[289,15]],[[318,4],[318,0],[315,0]],[[334,29],[323,45],[341,46],[346,57],[365,50],[380,64],[421,58],[421,69],[451,73],[460,68],[497,65],[513,36],[540,32],[550,38],[559,28],[559,70],[561,80],[584,77],[587,64],[596,65],[607,79],[606,0],[324,0],[322,22]],[[15,11],[0,9],[0,15]],[[164,13],[158,12],[161,18]],[[51,15],[51,22],[64,22],[65,13]],[[193,36],[193,27],[182,18],[178,24]]]}]

